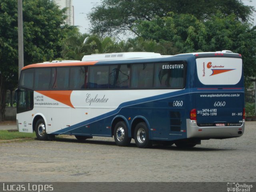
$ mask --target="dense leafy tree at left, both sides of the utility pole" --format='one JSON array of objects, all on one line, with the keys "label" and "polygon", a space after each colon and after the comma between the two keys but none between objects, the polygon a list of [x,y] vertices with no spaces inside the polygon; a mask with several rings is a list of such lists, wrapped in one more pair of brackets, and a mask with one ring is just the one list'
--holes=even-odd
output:
[{"label": "dense leafy tree at left, both sides of the utility pole", "polygon": [[[17,0],[0,0],[0,121],[7,88],[18,83]],[[64,24],[65,10],[52,0],[23,0],[24,65],[60,57],[62,42],[74,30]]]}]

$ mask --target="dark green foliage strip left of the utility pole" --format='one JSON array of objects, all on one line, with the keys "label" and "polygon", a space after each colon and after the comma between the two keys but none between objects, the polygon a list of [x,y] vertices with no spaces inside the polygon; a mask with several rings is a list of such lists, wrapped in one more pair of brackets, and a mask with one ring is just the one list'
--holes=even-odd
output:
[{"label": "dark green foliage strip left of the utility pole", "polygon": [[[4,119],[5,94],[10,81],[18,82],[17,1],[0,4],[0,121]],[[15,67],[15,65],[17,65]]]}]

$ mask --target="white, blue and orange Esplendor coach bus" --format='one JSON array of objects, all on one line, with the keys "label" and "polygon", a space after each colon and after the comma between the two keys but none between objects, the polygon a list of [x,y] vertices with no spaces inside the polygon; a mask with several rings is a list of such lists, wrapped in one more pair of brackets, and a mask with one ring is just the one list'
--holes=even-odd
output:
[{"label": "white, blue and orange Esplendor coach bus", "polygon": [[74,135],[194,147],[244,133],[242,56],[231,51],[165,56],[92,54],[22,68],[17,126],[38,140]]}]

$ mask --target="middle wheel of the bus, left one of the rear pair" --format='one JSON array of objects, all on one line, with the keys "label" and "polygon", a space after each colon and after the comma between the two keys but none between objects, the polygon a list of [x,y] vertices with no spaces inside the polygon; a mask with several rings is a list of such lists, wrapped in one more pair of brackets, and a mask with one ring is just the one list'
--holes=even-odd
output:
[{"label": "middle wheel of the bus, left one of the rear pair", "polygon": [[120,121],[114,128],[114,139],[118,146],[128,146],[132,140],[128,136],[128,128],[124,121]]}]

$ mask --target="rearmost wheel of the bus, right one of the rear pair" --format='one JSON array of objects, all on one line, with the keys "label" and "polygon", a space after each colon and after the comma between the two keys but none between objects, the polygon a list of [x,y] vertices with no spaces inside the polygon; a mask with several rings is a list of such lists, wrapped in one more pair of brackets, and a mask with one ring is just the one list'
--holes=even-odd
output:
[{"label": "rearmost wheel of the bus, right one of the rear pair", "polygon": [[139,148],[149,148],[152,146],[152,142],[149,139],[148,126],[144,122],[140,122],[136,125],[134,130],[134,140],[136,146]]}]

